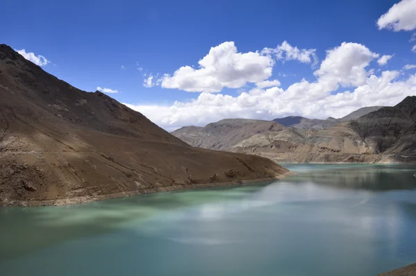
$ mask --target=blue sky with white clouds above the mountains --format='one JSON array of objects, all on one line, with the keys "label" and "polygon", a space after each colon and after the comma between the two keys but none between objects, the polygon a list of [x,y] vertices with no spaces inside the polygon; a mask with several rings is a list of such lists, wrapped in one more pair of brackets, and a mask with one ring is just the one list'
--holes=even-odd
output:
[{"label": "blue sky with white clouds above the mountains", "polygon": [[4,0],[0,43],[162,128],[416,95],[416,0]]}]

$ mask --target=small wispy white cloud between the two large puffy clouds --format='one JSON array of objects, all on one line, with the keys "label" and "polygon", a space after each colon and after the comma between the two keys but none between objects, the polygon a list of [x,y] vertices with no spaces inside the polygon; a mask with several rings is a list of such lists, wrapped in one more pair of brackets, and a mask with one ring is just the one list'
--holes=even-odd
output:
[{"label": "small wispy white cloud between the two large puffy clouds", "polygon": [[318,63],[318,56],[315,53],[316,49],[298,49],[296,46],[291,46],[286,40],[277,45],[275,49],[264,48],[261,53],[275,55],[277,60],[297,60],[303,63],[311,63],[313,66]]}]

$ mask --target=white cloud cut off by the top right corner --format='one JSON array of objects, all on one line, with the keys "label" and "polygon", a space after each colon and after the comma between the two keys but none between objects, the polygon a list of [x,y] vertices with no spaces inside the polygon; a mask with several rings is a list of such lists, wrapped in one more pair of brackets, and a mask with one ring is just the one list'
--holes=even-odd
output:
[{"label": "white cloud cut off by the top right corner", "polygon": [[377,20],[379,30],[412,31],[416,28],[416,0],[402,0]]}]

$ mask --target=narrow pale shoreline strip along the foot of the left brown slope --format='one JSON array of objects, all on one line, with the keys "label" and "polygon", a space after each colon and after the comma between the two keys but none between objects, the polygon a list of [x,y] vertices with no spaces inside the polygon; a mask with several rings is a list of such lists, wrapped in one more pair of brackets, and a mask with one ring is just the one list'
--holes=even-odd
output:
[{"label": "narrow pale shoreline strip along the foot of the left brown slope", "polygon": [[215,183],[201,183],[201,184],[178,184],[167,187],[156,187],[150,189],[140,189],[135,191],[121,191],[118,193],[107,193],[103,195],[95,196],[79,196],[74,198],[62,198],[62,199],[51,199],[51,200],[10,200],[10,202],[2,202],[0,207],[40,207],[40,206],[63,206],[81,204],[86,202],[93,202],[99,200],[107,200],[114,198],[127,198],[130,196],[139,196],[148,193],[161,193],[166,191],[180,191],[180,190],[192,190],[192,189],[203,189],[203,188],[214,188],[214,187],[238,187],[243,184],[259,183],[259,182],[273,182],[276,180],[282,180],[289,176],[296,175],[293,171],[282,173],[274,178],[257,178],[252,180],[241,180],[241,182],[215,182]]}]

